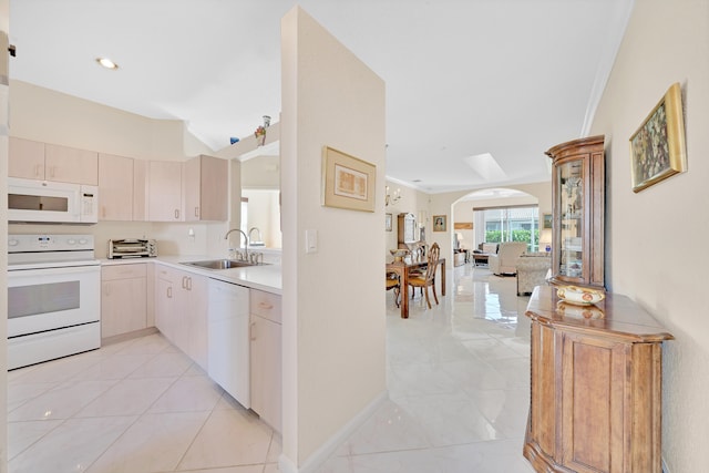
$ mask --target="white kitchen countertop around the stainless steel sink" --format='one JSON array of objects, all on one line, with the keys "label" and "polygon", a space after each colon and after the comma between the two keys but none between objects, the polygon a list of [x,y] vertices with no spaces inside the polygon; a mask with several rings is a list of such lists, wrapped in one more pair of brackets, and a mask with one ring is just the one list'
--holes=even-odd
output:
[{"label": "white kitchen countertop around the stainless steel sink", "polygon": [[204,269],[196,266],[182,265],[181,263],[204,261],[212,259],[224,259],[218,256],[188,255],[188,256],[158,256],[154,258],[125,258],[125,259],[101,259],[102,266],[131,265],[137,263],[152,263],[166,265],[183,271],[207,276],[225,282],[246,286],[266,292],[281,295],[280,265],[246,266],[230,269]]}]

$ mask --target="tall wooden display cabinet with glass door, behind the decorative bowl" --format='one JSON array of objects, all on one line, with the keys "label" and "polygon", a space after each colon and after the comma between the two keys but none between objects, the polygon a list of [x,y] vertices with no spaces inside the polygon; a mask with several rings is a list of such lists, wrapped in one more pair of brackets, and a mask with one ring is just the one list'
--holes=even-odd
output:
[{"label": "tall wooden display cabinet with glass door, behind the decorative bowl", "polygon": [[552,158],[552,284],[605,289],[604,137],[548,150]]}]

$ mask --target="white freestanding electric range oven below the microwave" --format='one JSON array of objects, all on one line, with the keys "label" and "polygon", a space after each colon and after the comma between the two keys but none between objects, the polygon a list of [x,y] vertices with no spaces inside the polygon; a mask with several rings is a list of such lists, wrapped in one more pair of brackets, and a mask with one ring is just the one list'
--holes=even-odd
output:
[{"label": "white freestanding electric range oven below the microwave", "polygon": [[8,237],[8,368],[101,346],[101,266],[91,235]]}]

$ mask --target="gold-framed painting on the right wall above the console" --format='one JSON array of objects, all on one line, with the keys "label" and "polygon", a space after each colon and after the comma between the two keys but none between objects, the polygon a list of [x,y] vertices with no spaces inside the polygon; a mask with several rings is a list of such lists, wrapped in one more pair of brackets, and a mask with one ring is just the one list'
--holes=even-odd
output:
[{"label": "gold-framed painting on the right wall above the console", "polygon": [[630,136],[630,161],[635,193],[685,172],[687,152],[679,83],[669,88]]}]

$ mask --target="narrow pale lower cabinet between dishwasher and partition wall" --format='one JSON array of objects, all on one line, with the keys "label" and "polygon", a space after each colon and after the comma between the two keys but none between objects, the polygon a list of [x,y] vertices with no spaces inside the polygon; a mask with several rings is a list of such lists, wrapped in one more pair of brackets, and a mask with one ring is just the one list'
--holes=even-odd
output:
[{"label": "narrow pale lower cabinet between dishwasher and partition wall", "polygon": [[251,410],[281,430],[280,296],[250,290]]}]

